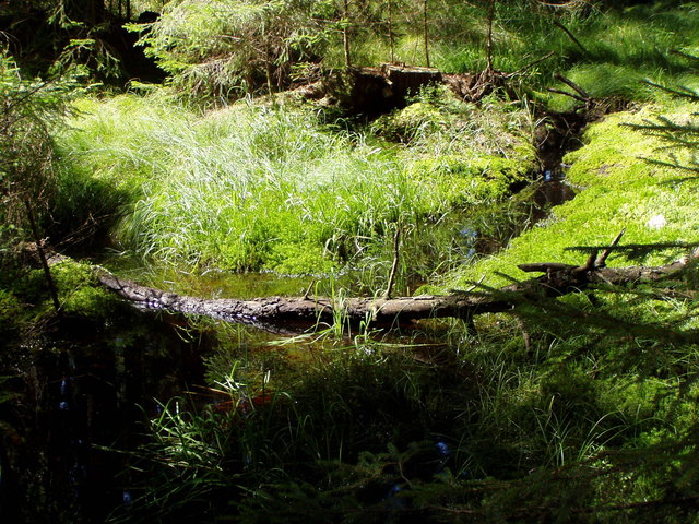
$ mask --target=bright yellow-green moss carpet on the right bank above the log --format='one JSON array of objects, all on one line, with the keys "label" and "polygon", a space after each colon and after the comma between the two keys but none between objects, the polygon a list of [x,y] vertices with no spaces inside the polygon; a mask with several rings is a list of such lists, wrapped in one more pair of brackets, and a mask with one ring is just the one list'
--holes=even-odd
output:
[{"label": "bright yellow-green moss carpet on the right bank above the log", "polygon": [[[638,112],[619,112],[591,126],[584,134],[587,145],[566,157],[566,162],[572,164],[567,179],[579,188],[578,195],[514,238],[497,257],[448,276],[446,286],[459,288],[481,275],[488,275],[489,285],[507,283],[502,277],[494,277],[496,272],[517,279],[530,277],[517,269],[521,263],[582,263],[584,254],[566,251],[566,248],[605,245],[623,228],[626,228],[626,243],[696,241],[699,238],[696,213],[699,181],[670,167],[645,162],[650,157],[664,158],[663,144],[624,126],[648,121],[661,109],[649,106]],[[683,105],[665,109],[671,118],[682,119],[688,118],[697,107]],[[661,216],[664,225],[653,227],[653,218]],[[642,262],[665,263],[678,254],[677,251],[656,253]],[[609,263],[628,265],[638,260],[616,255]]]}]

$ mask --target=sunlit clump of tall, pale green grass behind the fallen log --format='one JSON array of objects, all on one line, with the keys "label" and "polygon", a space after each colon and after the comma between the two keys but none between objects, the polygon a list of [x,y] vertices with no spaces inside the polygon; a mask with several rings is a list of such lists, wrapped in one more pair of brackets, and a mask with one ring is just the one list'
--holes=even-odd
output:
[{"label": "sunlit clump of tall, pale green grass behind the fallen log", "polygon": [[327,270],[348,239],[420,205],[389,156],[301,111],[238,105],[199,117],[131,96],[81,109],[64,138],[67,178],[88,169],[127,191],[116,239],[157,260]]}]

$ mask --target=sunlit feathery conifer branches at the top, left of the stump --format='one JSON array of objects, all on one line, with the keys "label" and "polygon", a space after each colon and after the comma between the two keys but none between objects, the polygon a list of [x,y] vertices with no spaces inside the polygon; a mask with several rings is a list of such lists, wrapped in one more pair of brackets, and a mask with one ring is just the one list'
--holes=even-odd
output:
[{"label": "sunlit feathery conifer branches at the top, left of the stump", "polygon": [[260,85],[276,88],[291,64],[322,45],[315,1],[178,1],[158,21],[132,24],[147,56],[175,85],[196,96],[227,99]]}]

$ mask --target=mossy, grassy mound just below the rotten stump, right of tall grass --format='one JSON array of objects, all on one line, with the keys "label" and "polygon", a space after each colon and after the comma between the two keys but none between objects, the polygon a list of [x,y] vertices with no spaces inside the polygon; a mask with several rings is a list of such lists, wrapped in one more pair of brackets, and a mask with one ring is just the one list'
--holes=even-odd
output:
[{"label": "mossy, grassy mound just below the rotten stump, right of tall grass", "polygon": [[529,114],[518,104],[459,100],[445,86],[422,90],[413,104],[380,117],[371,129],[401,141],[407,179],[429,195],[433,212],[494,203],[536,169]]}]

